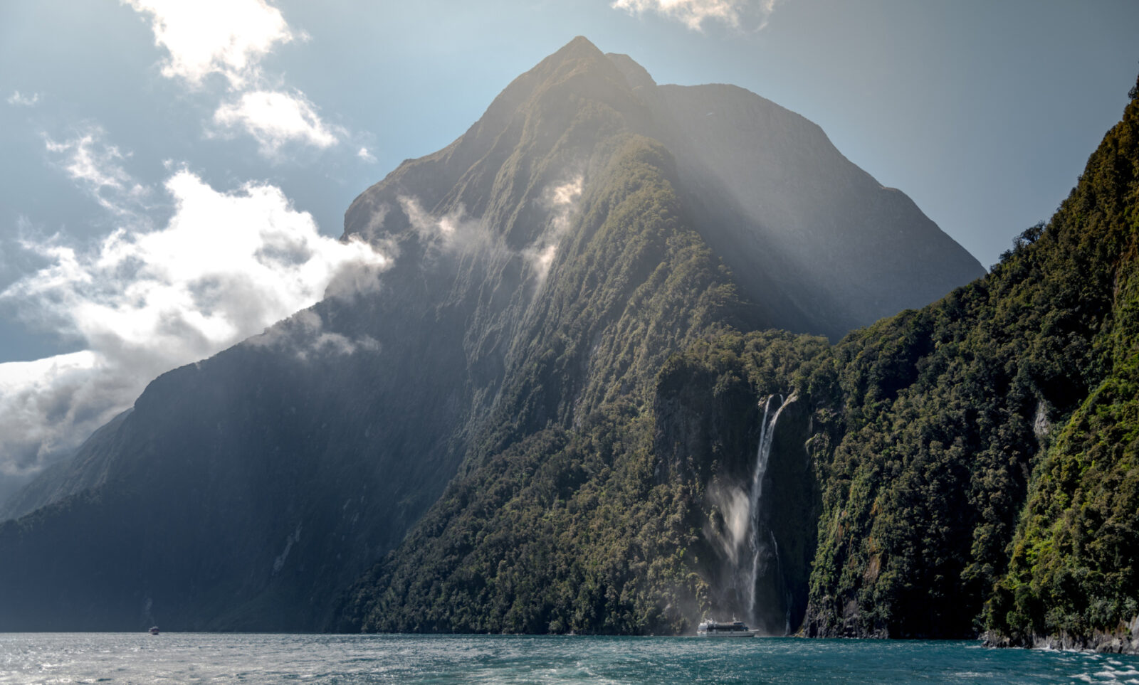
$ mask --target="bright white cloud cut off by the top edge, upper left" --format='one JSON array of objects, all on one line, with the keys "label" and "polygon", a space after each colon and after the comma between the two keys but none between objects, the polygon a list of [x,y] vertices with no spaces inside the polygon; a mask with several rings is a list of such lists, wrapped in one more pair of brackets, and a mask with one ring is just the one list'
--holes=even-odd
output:
[{"label": "bright white cloud cut off by the top edge, upper left", "polygon": [[221,74],[230,88],[260,79],[259,63],[278,43],[297,38],[264,0],[122,0],[150,17],[154,42],[170,57],[162,74],[194,86]]}]

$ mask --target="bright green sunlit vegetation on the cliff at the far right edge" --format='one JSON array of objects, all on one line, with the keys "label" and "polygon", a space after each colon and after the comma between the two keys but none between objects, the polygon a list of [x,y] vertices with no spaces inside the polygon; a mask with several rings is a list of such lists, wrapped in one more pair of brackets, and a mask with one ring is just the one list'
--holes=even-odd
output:
[{"label": "bright green sunlit vegetation on the cliff at the far right edge", "polygon": [[[1033,246],[1108,300],[1090,340],[1090,393],[1033,472],[1010,568],[989,612],[1014,644],[1130,636],[1139,617],[1139,84]],[[1056,258],[1056,257],[1054,257]],[[1084,296],[1081,303],[1090,299]],[[1082,313],[1082,312],[1081,312]]]}]

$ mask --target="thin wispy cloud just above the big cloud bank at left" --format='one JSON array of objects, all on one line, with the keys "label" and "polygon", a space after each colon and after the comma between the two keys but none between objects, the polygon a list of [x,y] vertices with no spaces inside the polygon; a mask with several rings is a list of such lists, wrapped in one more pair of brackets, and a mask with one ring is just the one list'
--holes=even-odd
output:
[{"label": "thin wispy cloud just above the big cloud bank at left", "polygon": [[115,214],[128,214],[146,198],[149,190],[123,170],[121,163],[130,155],[124,155],[103,139],[103,129],[88,126],[64,142],[46,138],[44,147],[60,157],[59,165],[67,175],[79,181],[99,205]]}]

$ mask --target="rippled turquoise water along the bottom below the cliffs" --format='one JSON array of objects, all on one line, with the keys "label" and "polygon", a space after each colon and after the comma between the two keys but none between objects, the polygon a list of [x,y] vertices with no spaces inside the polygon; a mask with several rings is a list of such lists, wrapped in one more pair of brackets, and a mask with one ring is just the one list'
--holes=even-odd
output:
[{"label": "rippled turquoise water along the bottom below the cliffs", "polygon": [[0,634],[0,683],[1139,683],[1139,658],[757,637]]}]

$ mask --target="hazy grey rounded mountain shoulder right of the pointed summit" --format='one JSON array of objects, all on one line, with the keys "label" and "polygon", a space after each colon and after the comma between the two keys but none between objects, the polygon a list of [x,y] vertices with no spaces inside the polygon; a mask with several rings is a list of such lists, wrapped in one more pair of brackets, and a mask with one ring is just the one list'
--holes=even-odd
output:
[{"label": "hazy grey rounded mountain shoulder right of the pointed summit", "polygon": [[[677,156],[698,197],[727,192],[735,220],[705,239],[749,294],[755,271],[790,292],[809,317],[790,330],[846,331],[919,307],[984,273],[904,193],[851,164],[814,123],[735,85],[661,85],[609,55],[653,112],[652,135]],[[900,230],[899,226],[904,226]],[[900,288],[906,283],[907,288]],[[753,295],[754,296],[754,295]]]}]

